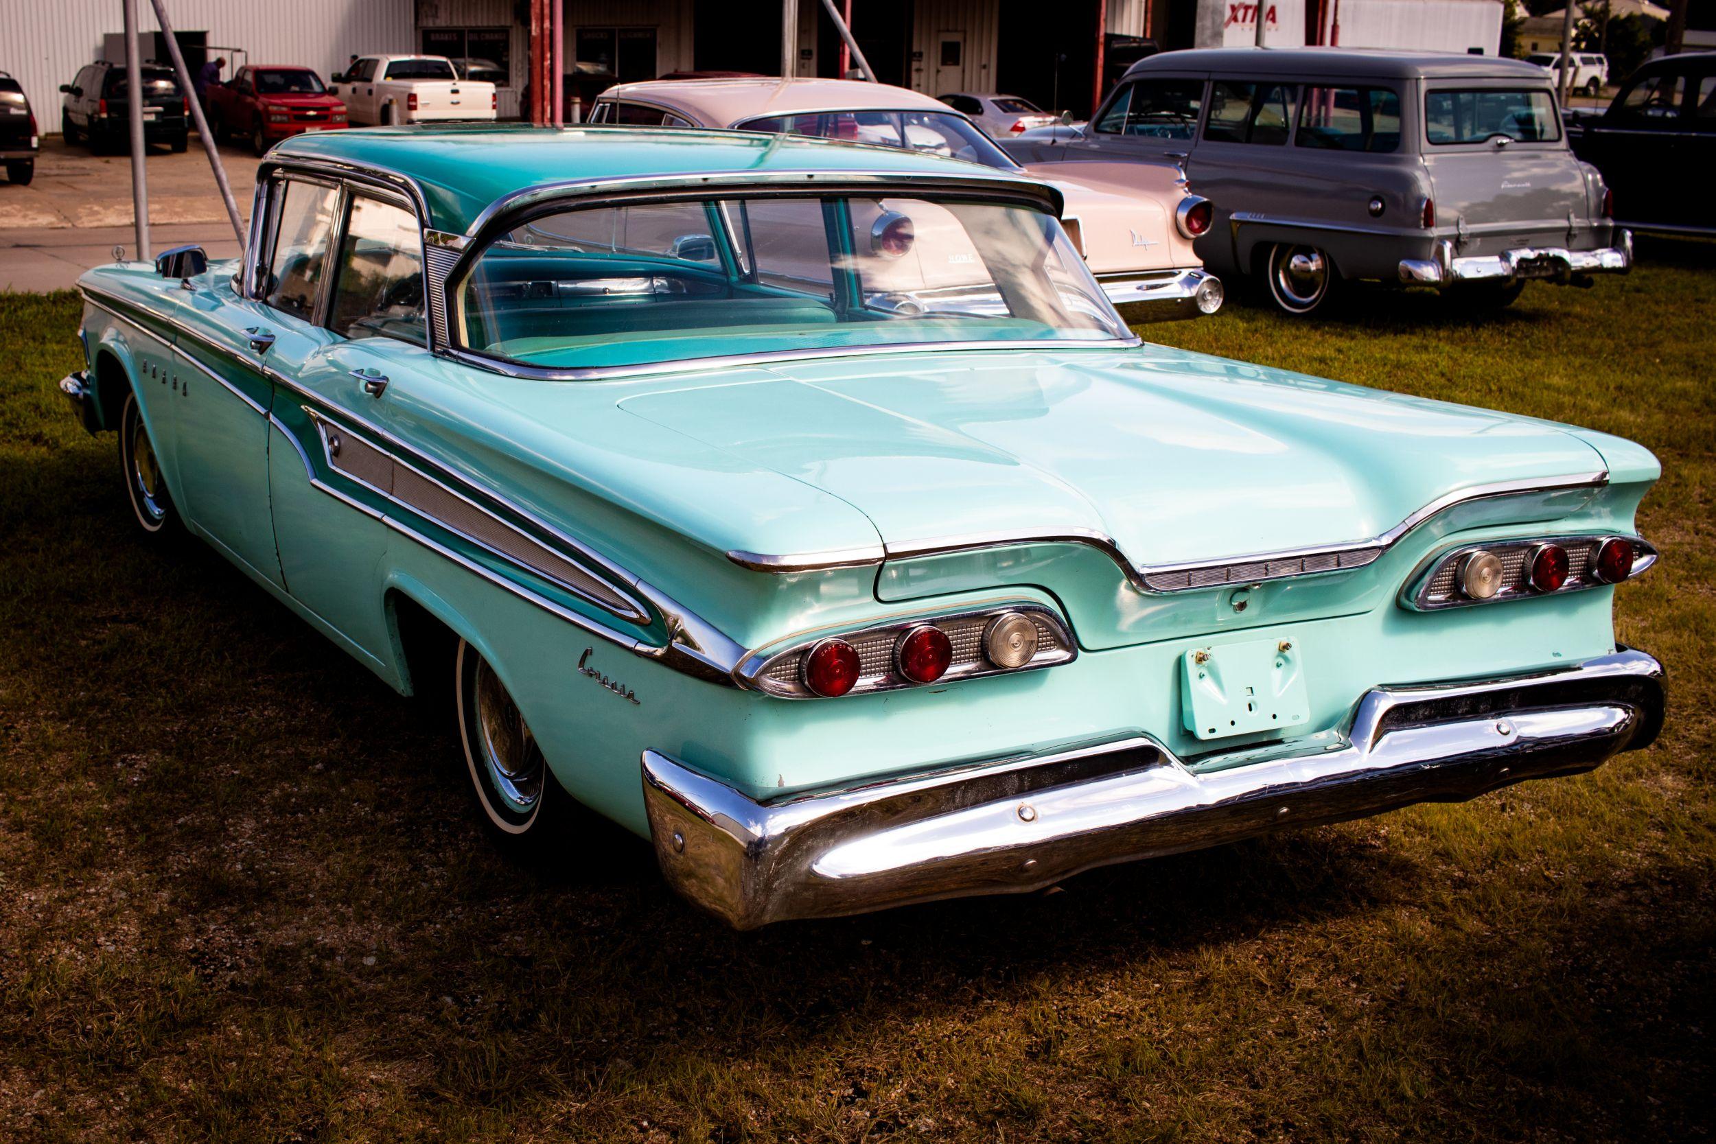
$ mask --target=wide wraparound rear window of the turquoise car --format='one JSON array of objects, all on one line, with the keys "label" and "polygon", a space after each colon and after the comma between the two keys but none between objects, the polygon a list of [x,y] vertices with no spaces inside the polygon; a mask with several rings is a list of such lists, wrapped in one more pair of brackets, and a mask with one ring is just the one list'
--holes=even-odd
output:
[{"label": "wide wraparound rear window of the turquoise car", "polygon": [[563,209],[453,300],[465,348],[549,369],[1129,336],[1054,216],[892,196]]}]

